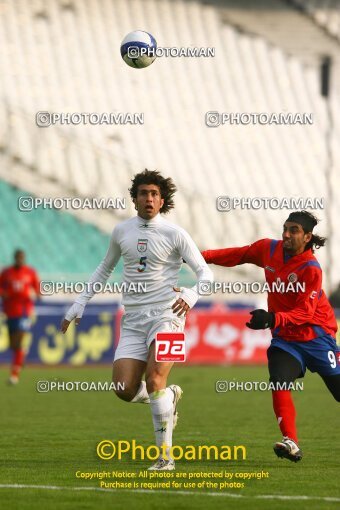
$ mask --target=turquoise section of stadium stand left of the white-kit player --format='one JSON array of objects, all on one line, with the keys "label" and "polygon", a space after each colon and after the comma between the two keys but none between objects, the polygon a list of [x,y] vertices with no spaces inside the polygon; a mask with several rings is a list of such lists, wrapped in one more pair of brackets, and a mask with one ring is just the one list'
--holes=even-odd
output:
[{"label": "turquoise section of stadium stand left of the white-kit player", "polygon": [[18,214],[21,196],[25,193],[0,181],[1,265],[12,261],[14,247],[25,247],[30,264],[41,273],[87,273],[97,266],[108,235],[65,212],[35,209]]}]

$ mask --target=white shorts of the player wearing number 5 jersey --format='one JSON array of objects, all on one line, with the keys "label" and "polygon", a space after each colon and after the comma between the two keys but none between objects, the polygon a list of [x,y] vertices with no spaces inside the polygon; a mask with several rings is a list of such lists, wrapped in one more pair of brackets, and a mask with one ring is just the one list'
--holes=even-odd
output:
[{"label": "white shorts of the player wearing number 5 jersey", "polygon": [[121,358],[132,358],[147,361],[149,347],[155,340],[156,333],[182,332],[185,317],[174,314],[169,304],[154,308],[127,312],[122,317],[120,339],[115,352],[114,361]]}]

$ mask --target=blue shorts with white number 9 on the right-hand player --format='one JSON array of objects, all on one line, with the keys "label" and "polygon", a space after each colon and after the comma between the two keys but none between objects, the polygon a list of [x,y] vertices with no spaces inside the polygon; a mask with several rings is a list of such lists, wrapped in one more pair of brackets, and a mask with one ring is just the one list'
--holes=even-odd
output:
[{"label": "blue shorts with white number 9 on the right-hand player", "polygon": [[306,368],[321,376],[340,375],[340,347],[330,335],[308,342],[287,342],[282,338],[273,338],[271,345],[292,354],[300,362],[303,375]]}]

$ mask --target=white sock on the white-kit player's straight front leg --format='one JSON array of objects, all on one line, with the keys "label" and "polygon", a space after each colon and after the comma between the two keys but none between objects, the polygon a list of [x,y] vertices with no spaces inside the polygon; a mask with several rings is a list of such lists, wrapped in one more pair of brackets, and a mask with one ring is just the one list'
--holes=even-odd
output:
[{"label": "white sock on the white-kit player's straight front leg", "polygon": [[156,445],[166,445],[166,456],[170,458],[173,428],[173,393],[170,388],[150,393],[152,421],[155,429]]}]

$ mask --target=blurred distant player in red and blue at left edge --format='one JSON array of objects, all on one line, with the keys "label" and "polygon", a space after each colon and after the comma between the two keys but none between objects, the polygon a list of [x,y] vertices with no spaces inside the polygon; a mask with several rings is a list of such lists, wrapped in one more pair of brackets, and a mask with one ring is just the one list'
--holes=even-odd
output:
[{"label": "blurred distant player in red and blue at left edge", "polygon": [[10,348],[13,350],[10,384],[19,382],[19,373],[25,359],[22,343],[31,325],[32,294],[40,295],[39,278],[34,269],[25,265],[24,251],[16,250],[14,265],[3,269],[0,274],[2,308],[7,316]]}]

